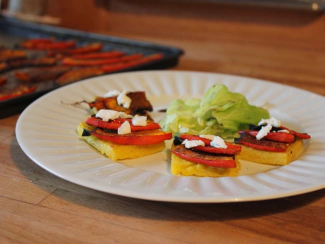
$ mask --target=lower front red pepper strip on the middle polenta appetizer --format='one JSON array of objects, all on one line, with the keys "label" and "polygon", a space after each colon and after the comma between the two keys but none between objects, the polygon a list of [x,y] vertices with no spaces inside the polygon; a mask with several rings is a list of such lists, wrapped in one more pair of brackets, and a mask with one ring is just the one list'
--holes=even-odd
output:
[{"label": "lower front red pepper strip on the middle polenta appetizer", "polygon": [[182,144],[172,144],[170,151],[178,157],[194,163],[200,163],[211,167],[236,167],[236,162],[232,156],[220,156],[197,152],[185,148]]}]

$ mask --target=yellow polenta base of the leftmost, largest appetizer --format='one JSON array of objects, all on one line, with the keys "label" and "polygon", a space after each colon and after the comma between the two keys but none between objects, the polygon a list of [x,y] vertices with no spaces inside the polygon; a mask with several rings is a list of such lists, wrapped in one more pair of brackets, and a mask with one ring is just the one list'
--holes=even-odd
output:
[{"label": "yellow polenta base of the leftmost, largest appetizer", "polygon": [[165,148],[164,142],[150,145],[124,145],[103,140],[94,135],[81,136],[84,128],[92,130],[94,127],[85,122],[81,122],[77,126],[78,135],[101,154],[106,155],[112,160],[142,157],[156,153]]}]

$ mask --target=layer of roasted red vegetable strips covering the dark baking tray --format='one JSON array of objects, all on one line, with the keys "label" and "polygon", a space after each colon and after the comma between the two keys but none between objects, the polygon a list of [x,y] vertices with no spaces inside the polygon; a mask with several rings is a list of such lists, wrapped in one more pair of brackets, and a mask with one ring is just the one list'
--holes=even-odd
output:
[{"label": "layer of roasted red vegetable strips covering the dark baking tray", "polygon": [[107,49],[99,42],[25,39],[15,48],[0,48],[0,101],[31,93],[45,83],[60,86],[162,58],[162,53]]}]

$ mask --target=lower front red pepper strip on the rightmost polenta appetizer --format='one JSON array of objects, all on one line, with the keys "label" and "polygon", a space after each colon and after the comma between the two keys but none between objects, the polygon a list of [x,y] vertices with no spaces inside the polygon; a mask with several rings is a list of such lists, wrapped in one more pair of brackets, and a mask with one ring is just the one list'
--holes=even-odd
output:
[{"label": "lower front red pepper strip on the rightmost polenta appetizer", "polygon": [[240,138],[235,139],[235,142],[263,151],[283,152],[287,149],[287,145],[284,142],[268,139],[257,140],[254,136],[246,132],[240,133]]}]

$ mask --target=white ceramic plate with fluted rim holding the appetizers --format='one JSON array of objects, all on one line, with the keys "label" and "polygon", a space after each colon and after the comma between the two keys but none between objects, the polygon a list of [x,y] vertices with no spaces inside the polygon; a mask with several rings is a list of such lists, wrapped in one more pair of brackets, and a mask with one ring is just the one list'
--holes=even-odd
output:
[{"label": "white ceramic plate with fluted rim holding the appetizers", "polygon": [[[282,167],[243,162],[238,177],[181,177],[169,172],[168,149],[137,159],[112,161],[76,134],[88,115],[86,104],[108,90],[144,90],[159,120],[177,97],[201,97],[213,84],[243,93],[251,104],[267,105],[271,116],[311,135],[304,154]],[[62,102],[63,101],[63,102]],[[232,202],[271,199],[305,193],[325,186],[325,98],[273,82],[216,73],[137,71],[86,79],[63,86],[31,103],[16,124],[22,150],[49,172],[96,190],[176,202]],[[167,143],[168,144],[168,143]],[[170,144],[170,143],[169,143]]]}]

